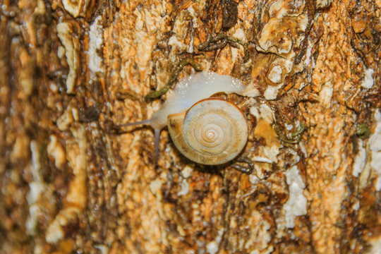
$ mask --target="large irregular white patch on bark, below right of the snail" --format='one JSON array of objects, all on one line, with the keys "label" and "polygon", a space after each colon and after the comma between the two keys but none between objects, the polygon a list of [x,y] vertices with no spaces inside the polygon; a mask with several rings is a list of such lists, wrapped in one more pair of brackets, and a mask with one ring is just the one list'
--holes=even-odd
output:
[{"label": "large irregular white patch on bark, below right of the snail", "polygon": [[286,171],[287,184],[289,185],[289,200],[284,204],[286,227],[294,228],[296,216],[307,214],[307,198],[303,195],[306,186],[299,176],[298,167],[291,167]]}]

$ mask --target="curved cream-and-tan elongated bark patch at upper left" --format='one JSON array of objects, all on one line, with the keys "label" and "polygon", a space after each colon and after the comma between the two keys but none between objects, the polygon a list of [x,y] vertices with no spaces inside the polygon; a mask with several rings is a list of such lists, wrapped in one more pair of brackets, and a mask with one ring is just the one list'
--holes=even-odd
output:
[{"label": "curved cream-and-tan elongated bark patch at upper left", "polygon": [[[66,79],[66,92],[71,94],[75,90],[77,72],[79,67],[78,38],[75,37],[73,29],[69,23],[59,23],[56,27],[57,35],[63,47],[65,47],[66,61],[69,66],[68,78]],[[57,52],[58,54],[58,52]]]}]

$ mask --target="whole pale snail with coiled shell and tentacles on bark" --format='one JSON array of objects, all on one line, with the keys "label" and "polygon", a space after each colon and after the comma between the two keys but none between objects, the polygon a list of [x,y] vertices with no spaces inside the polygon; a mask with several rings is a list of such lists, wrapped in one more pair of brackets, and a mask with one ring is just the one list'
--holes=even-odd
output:
[{"label": "whole pale snail with coiled shell and tentacles on bark", "polygon": [[176,148],[199,164],[217,165],[234,159],[248,140],[248,123],[242,111],[217,92],[241,93],[243,84],[229,75],[202,71],[181,80],[151,119],[122,126],[150,125],[155,130],[155,160],[159,133],[168,126]]}]

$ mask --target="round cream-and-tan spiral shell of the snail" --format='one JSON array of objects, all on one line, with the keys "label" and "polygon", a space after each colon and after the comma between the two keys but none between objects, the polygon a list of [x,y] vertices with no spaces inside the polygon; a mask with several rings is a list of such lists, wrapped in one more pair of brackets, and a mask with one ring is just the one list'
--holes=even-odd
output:
[{"label": "round cream-and-tan spiral shell of the snail", "polygon": [[248,123],[242,111],[217,98],[202,99],[186,112],[169,115],[168,130],[184,156],[207,165],[234,159],[248,140]]}]

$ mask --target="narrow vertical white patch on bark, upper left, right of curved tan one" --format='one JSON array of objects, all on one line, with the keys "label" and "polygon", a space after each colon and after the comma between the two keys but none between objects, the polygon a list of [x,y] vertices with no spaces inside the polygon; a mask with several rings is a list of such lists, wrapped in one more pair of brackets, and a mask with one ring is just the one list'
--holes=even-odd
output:
[{"label": "narrow vertical white patch on bark, upper left, right of curved tan one", "polygon": [[92,71],[92,73],[102,73],[102,58],[99,56],[103,44],[102,16],[97,16],[92,25],[90,25],[89,39],[88,54],[90,71]]}]

